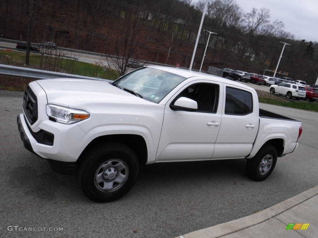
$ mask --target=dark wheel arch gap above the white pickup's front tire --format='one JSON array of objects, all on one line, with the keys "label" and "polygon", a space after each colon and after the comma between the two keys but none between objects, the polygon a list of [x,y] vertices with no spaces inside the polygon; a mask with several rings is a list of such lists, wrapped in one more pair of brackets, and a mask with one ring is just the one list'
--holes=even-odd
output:
[{"label": "dark wheel arch gap above the white pickup's front tire", "polygon": [[93,139],[83,150],[83,152],[79,156],[79,159],[76,161],[76,164],[80,164],[83,160],[85,160],[85,157],[83,155],[85,155],[87,151],[108,142],[112,142],[112,143],[117,142],[117,143],[121,143],[128,146],[137,156],[139,164],[147,163],[148,150],[147,150],[147,144],[144,138],[140,135],[119,134],[119,135],[99,136]]}]

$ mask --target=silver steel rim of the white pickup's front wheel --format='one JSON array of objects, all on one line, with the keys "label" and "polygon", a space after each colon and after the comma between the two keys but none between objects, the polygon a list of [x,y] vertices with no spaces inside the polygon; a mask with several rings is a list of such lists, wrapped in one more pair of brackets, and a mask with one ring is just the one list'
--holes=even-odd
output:
[{"label": "silver steel rim of the white pickup's front wheel", "polygon": [[122,160],[109,160],[96,170],[94,179],[98,190],[110,193],[121,188],[128,179],[129,169]]}]

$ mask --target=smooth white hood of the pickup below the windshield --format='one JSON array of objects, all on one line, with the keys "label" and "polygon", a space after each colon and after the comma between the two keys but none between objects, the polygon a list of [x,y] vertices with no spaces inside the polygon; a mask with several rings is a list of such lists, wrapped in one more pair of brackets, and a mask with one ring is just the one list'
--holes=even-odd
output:
[{"label": "smooth white hood of the pickup below the windshield", "polygon": [[71,106],[83,101],[148,102],[121,90],[106,81],[89,79],[43,79],[37,83],[47,96],[48,103]]}]

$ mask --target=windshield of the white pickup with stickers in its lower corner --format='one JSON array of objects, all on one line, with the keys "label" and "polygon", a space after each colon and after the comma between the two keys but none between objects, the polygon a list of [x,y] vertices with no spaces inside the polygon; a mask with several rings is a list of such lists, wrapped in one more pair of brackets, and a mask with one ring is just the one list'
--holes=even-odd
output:
[{"label": "windshield of the white pickup with stickers in its lower corner", "polygon": [[120,77],[114,83],[121,89],[129,89],[148,101],[159,103],[185,79],[161,69],[144,67]]}]

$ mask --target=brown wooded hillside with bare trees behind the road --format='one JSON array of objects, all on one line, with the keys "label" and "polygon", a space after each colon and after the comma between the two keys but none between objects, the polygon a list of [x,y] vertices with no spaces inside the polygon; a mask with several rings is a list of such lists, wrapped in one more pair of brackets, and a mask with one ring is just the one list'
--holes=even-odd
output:
[{"label": "brown wooded hillside with bare trees behind the road", "polygon": [[[120,73],[129,59],[189,67],[205,1],[191,0],[2,0],[0,34],[31,42],[52,41],[61,47],[119,57]],[[208,4],[193,69],[199,69],[211,34],[203,70],[209,66],[263,74],[276,68],[293,79],[314,83],[318,44],[296,40],[284,23],[271,21],[268,9],[244,12],[234,0]],[[277,74],[277,76],[279,76]],[[284,75],[282,75],[284,76]]]}]

